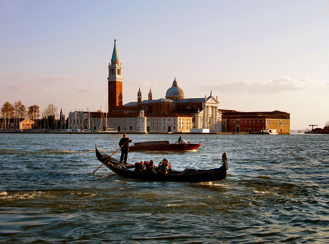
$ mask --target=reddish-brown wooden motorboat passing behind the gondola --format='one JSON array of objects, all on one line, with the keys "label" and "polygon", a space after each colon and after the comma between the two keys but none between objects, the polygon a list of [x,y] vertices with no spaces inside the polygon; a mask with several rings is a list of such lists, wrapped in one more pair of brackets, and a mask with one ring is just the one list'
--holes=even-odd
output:
[{"label": "reddish-brown wooden motorboat passing behind the gondola", "polygon": [[186,142],[184,139],[174,144],[169,141],[151,141],[134,143],[134,145],[129,146],[129,151],[192,151],[201,145],[201,143]]}]

